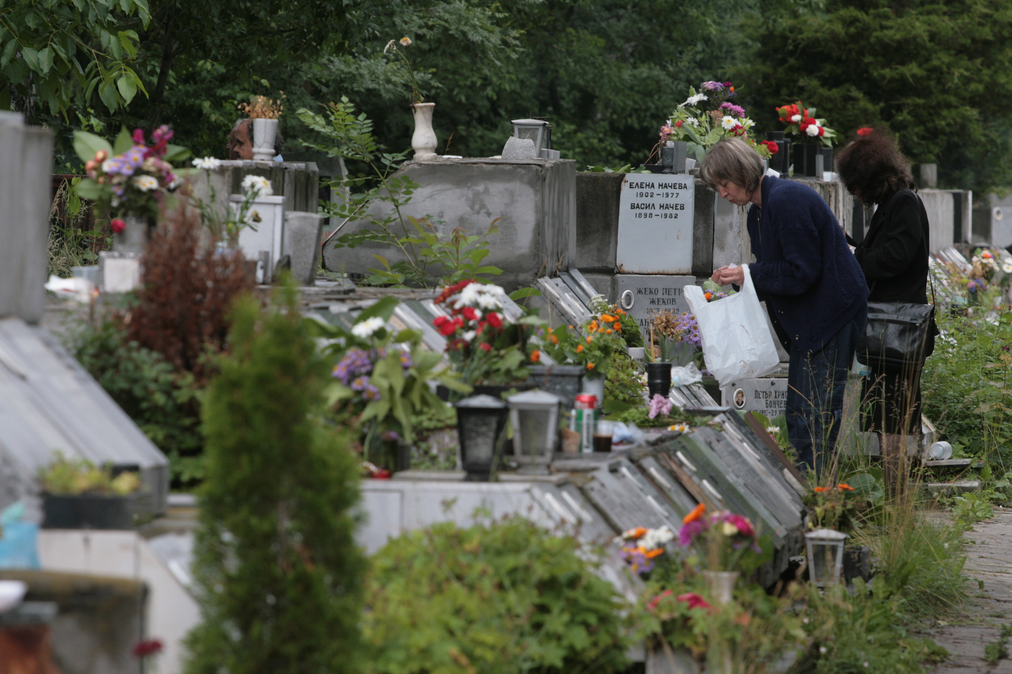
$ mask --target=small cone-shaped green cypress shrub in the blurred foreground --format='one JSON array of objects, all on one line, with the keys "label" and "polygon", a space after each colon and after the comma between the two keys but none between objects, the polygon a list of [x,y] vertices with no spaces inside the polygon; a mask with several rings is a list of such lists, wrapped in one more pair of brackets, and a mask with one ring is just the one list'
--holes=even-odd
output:
[{"label": "small cone-shaped green cypress shrub in the blurred foreground", "polygon": [[203,405],[191,674],[356,671],[365,559],[358,468],[319,412],[328,379],[294,290],[241,299]]}]

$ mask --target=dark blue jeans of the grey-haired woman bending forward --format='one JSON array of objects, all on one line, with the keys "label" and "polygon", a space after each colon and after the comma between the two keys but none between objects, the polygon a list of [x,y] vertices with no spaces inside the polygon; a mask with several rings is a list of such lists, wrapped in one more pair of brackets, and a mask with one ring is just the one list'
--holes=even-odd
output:
[{"label": "dark blue jeans of the grey-haired woman bending forward", "polygon": [[790,350],[787,371],[787,440],[797,453],[797,468],[822,471],[836,447],[843,414],[843,392],[854,360],[857,340],[864,331],[868,308],[834,334],[822,351]]}]

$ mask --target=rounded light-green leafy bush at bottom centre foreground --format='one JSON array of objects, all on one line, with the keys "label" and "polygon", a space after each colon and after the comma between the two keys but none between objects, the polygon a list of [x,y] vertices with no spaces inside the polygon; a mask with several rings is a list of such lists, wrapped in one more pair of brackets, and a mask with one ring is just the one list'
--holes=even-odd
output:
[{"label": "rounded light-green leafy bush at bottom centre foreground", "polygon": [[623,602],[570,536],[519,516],[434,524],[372,558],[364,633],[382,674],[615,672]]}]

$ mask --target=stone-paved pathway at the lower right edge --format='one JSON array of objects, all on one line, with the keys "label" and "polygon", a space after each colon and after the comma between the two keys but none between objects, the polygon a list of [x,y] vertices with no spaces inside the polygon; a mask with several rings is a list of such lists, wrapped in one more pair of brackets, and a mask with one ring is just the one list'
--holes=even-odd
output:
[{"label": "stone-paved pathway at the lower right edge", "polygon": [[[1012,511],[995,511],[992,519],[978,522],[964,535],[975,544],[966,547],[964,571],[972,579],[967,614],[953,620],[956,624],[930,632],[949,652],[946,662],[928,670],[932,674],[1012,674],[1012,660],[995,666],[984,660],[984,647],[998,639],[998,625],[1012,622]],[[984,581],[983,591],[974,579]]]}]

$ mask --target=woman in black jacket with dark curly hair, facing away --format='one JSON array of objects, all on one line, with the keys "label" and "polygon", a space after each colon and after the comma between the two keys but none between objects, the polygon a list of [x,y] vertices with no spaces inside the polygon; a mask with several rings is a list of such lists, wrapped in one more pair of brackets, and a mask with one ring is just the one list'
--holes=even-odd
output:
[{"label": "woman in black jacket with dark curly hair, facing away", "polygon": [[[910,163],[893,137],[862,128],[836,159],[837,172],[875,213],[864,239],[854,250],[870,294],[868,302],[927,302],[928,215],[914,192]],[[861,400],[863,427],[878,432],[886,483],[894,490],[906,482],[907,437],[920,438],[921,369],[871,366]]]}]

